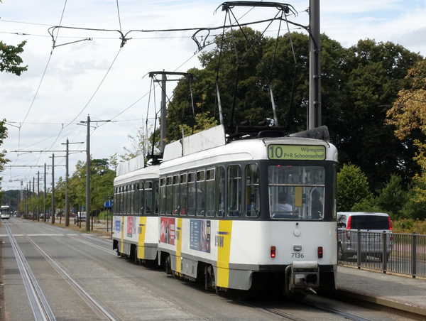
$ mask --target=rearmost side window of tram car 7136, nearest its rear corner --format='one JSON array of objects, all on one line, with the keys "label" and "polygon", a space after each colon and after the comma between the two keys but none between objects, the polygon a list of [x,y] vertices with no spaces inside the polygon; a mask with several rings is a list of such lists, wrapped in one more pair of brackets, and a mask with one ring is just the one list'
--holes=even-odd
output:
[{"label": "rearmost side window of tram car 7136, nearest its rear corner", "polygon": [[246,165],[246,216],[258,217],[261,209],[259,170],[257,164]]}]

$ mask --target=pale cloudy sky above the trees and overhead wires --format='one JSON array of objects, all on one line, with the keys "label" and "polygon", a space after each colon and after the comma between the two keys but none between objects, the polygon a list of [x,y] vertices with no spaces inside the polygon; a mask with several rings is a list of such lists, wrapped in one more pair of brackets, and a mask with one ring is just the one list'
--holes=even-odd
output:
[{"label": "pale cloudy sky above the trees and overhead wires", "polygon": [[[307,26],[309,0],[288,3],[298,13],[289,20]],[[161,92],[152,89],[155,83],[148,73],[200,67],[200,52],[191,39],[194,31],[160,30],[222,26],[224,12],[215,11],[221,4],[212,0],[2,0],[0,40],[7,45],[26,40],[21,58],[28,65],[19,77],[0,72],[0,119],[6,119],[9,135],[0,148],[6,149],[11,160],[0,173],[2,189],[20,189],[21,183],[26,187],[33,178],[37,180],[38,172],[43,189],[44,164],[48,165],[47,187],[51,187],[53,154],[55,182],[65,178],[67,139],[72,143],[72,175],[77,161],[86,160],[87,124],[81,121],[88,116],[92,158],[110,158],[123,155],[124,147],[131,149],[128,136],[136,136],[147,118],[148,126],[153,126],[160,109]],[[426,0],[321,0],[320,8],[321,33],[345,48],[370,38],[426,55]],[[244,23],[273,18],[277,10],[238,7],[233,12]],[[49,28],[54,26],[71,28],[55,28],[50,31],[52,38]],[[277,29],[278,24],[271,26],[266,36],[275,36]],[[121,48],[119,31],[130,30]],[[304,32],[294,27],[290,31]],[[175,83],[168,82],[168,97]]]}]

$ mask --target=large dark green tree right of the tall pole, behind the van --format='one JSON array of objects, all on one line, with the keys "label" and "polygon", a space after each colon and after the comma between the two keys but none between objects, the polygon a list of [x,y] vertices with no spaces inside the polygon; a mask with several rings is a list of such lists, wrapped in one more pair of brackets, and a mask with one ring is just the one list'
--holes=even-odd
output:
[{"label": "large dark green tree right of the tall pole, behind the van", "polygon": [[385,120],[406,85],[405,75],[422,57],[401,45],[370,39],[359,40],[345,55],[339,87],[332,85],[339,97],[322,94],[323,124],[339,150],[339,161],[358,165],[374,191],[384,187],[391,173],[408,185],[420,170],[413,162],[415,148],[412,142],[395,138]]}]

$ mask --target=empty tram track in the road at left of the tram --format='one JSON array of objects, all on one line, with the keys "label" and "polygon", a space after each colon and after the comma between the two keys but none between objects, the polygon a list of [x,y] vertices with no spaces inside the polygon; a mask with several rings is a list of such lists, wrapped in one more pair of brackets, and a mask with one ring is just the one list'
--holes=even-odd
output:
[{"label": "empty tram track in the road at left of the tram", "polygon": [[[19,248],[16,239],[11,233],[9,223],[6,223],[4,225],[6,226],[6,230],[9,234],[9,239],[11,239],[13,252],[15,253],[16,260],[18,261],[19,270],[21,271],[21,276],[23,278],[23,282],[28,293],[28,299],[30,300],[35,320],[56,320],[52,310],[50,309],[50,306],[48,305],[47,300],[45,300],[43,292],[41,291],[40,286],[38,285],[35,279],[35,276],[31,272],[31,268],[29,267],[28,262],[26,262],[25,256],[23,256],[23,253]],[[83,283],[78,278],[73,276],[72,273],[67,270],[67,268],[62,266],[59,261],[54,259],[53,256],[50,256],[46,251],[44,251],[40,246],[38,246],[38,244],[36,244],[35,241],[31,239],[31,236],[28,236],[28,234],[22,232],[18,227],[15,228],[18,229],[18,231],[28,240],[31,245],[33,245],[33,247],[41,254],[41,256],[43,256],[43,258],[48,261],[48,263],[50,263],[50,266],[52,266],[55,271],[70,285],[70,288],[72,288],[72,290],[74,290],[75,293],[77,293],[77,295],[82,298],[84,303],[86,303],[89,308],[93,310],[93,312],[99,317],[100,320],[121,320],[121,317],[116,315],[116,313],[111,310],[105,303],[103,303],[102,300],[97,297],[97,295],[92,293],[92,291],[90,291],[89,289],[85,288]],[[83,241],[83,243],[89,242]],[[95,247],[99,247],[99,249],[102,249],[101,246]]]}]

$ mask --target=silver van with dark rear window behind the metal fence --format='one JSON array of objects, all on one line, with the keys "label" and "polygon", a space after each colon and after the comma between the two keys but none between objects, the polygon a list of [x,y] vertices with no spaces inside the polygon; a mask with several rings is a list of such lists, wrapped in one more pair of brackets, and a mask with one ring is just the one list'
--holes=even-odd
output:
[{"label": "silver van with dark rear window behind the metal fence", "polygon": [[[367,256],[386,261],[391,256],[393,246],[392,222],[386,213],[376,212],[337,212],[337,256],[339,261],[358,255],[358,235],[361,237],[359,254],[361,261]],[[383,249],[383,233],[386,233],[386,249]]]}]

